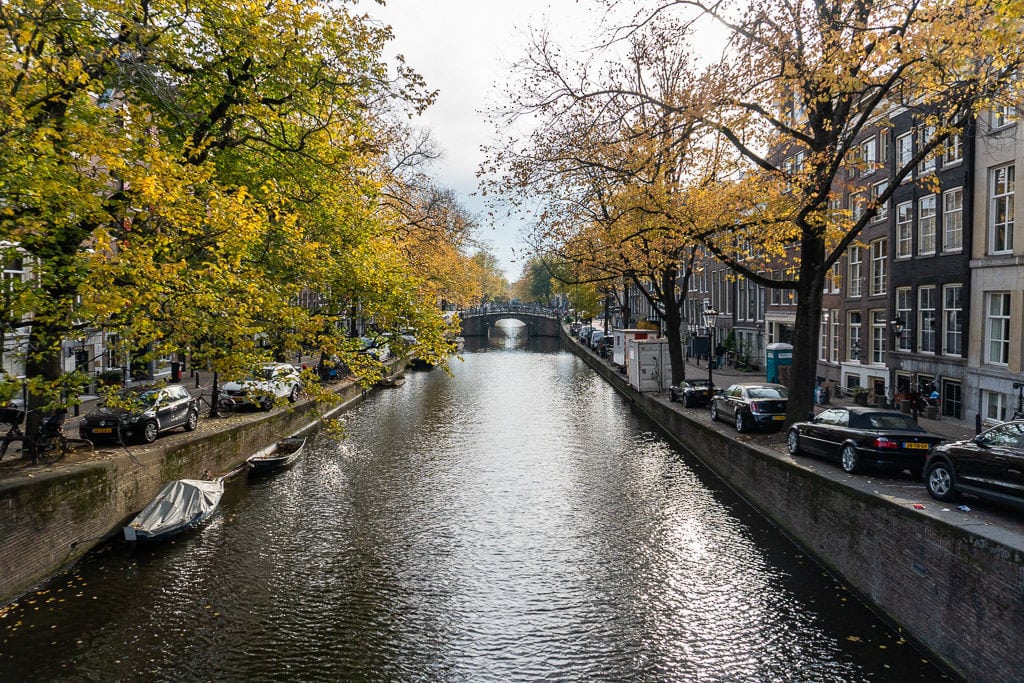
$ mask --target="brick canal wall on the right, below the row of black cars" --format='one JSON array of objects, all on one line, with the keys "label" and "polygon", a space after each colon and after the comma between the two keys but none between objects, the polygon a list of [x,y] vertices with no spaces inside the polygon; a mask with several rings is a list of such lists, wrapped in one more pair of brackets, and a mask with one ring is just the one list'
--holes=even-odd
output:
[{"label": "brick canal wall on the right, below the row of black cars", "polygon": [[968,529],[828,479],[695,422],[584,358],[674,440],[885,618],[970,681],[1024,679],[1024,551],[1016,537]]}]

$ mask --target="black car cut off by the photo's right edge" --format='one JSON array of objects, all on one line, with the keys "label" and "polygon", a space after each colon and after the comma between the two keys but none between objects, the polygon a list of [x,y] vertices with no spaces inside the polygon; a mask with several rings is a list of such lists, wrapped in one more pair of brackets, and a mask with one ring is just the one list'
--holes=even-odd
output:
[{"label": "black car cut off by the photo's right edge", "polygon": [[932,498],[940,501],[952,501],[965,493],[1024,504],[1024,420],[937,446],[925,465],[925,484]]}]

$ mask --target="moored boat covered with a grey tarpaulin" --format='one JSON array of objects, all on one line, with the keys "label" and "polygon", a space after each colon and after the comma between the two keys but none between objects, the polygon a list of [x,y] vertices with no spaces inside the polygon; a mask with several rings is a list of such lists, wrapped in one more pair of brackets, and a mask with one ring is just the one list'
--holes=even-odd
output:
[{"label": "moored boat covered with a grey tarpaulin", "polygon": [[224,495],[224,479],[170,482],[124,527],[125,541],[162,541],[210,518]]}]

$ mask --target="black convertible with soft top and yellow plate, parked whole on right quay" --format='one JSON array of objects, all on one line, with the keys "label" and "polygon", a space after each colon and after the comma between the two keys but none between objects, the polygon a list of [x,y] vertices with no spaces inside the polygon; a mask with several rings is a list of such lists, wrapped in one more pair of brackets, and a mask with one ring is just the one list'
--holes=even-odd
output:
[{"label": "black convertible with soft top and yellow plate, parked whole on right quay", "polygon": [[914,476],[941,442],[941,436],[926,431],[909,415],[857,405],[829,409],[809,422],[798,422],[785,439],[791,454],[835,460],[851,474],[877,467],[910,470]]}]

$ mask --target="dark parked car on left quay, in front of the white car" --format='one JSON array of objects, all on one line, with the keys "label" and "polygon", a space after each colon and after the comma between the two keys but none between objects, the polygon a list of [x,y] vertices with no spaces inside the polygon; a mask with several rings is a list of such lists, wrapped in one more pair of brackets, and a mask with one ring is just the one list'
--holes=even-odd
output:
[{"label": "dark parked car on left quay, in front of the white car", "polygon": [[79,436],[90,441],[124,442],[138,439],[153,443],[161,432],[199,424],[199,401],[180,384],[131,387],[87,413],[79,423]]}]

